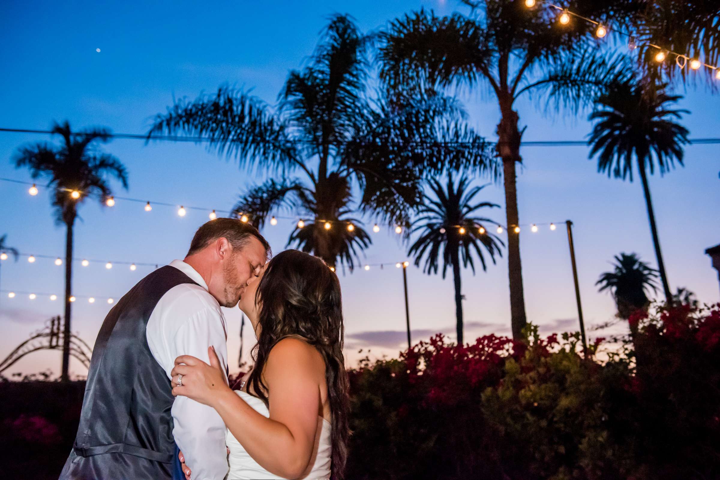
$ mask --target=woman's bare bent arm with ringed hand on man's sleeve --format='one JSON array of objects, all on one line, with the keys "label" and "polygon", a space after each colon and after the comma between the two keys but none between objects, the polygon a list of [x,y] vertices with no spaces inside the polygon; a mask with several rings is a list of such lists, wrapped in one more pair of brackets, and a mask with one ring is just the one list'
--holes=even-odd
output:
[{"label": "woman's bare bent arm with ringed hand on man's sleeve", "polygon": [[[312,346],[285,338],[271,350],[263,372],[270,418],[244,402],[222,381],[222,371],[193,357],[180,356],[173,370],[183,375],[173,394],[214,407],[248,454],[264,469],[285,478],[302,475],[310,463],[320,412],[325,364]],[[214,352],[210,363],[215,364]]]}]

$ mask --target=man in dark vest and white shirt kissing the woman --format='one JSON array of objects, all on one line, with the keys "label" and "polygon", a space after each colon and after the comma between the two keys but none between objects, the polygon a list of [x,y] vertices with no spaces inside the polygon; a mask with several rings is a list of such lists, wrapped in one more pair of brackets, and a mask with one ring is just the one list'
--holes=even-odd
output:
[{"label": "man in dark vest and white shirt kissing the woman", "polygon": [[78,434],[60,480],[183,478],[228,473],[225,424],[211,407],[171,394],[179,355],[227,369],[225,318],[270,247],[248,223],[217,218],[196,232],[184,261],[149,274],[110,310],[93,350]]}]

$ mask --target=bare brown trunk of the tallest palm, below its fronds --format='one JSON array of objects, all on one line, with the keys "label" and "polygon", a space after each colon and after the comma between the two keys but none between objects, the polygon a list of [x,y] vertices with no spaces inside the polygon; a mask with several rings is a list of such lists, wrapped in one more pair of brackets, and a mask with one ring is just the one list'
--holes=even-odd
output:
[{"label": "bare brown trunk of the tallest palm, below its fronds", "polygon": [[[501,102],[503,103],[503,102]],[[523,293],[523,272],[520,262],[520,235],[513,229],[518,221],[518,193],[516,190],[516,162],[520,162],[520,139],[518,113],[510,106],[501,104],[502,119],[498,124],[498,154],[503,159],[503,181],[505,183],[505,216],[508,227],[508,280],[510,282],[510,323],[513,338],[521,340],[522,330],[527,324],[525,295]]]}]

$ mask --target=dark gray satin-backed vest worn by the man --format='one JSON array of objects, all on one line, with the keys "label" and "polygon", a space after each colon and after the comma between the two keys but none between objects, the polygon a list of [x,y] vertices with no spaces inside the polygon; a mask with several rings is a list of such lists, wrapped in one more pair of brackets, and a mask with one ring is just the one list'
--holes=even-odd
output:
[{"label": "dark gray satin-backed vest worn by the man", "polygon": [[78,435],[60,479],[172,478],[174,397],[145,328],[161,297],[184,283],[195,282],[175,267],[157,269],[107,314],[93,349]]}]

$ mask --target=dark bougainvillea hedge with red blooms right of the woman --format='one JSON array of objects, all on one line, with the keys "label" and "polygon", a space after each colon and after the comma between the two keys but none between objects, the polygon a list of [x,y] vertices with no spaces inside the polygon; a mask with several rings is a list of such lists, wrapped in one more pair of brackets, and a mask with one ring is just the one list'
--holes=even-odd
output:
[{"label": "dark bougainvillea hedge with red blooms right of the woman", "polygon": [[366,359],[348,479],[720,479],[720,305],[630,321],[604,362],[535,326]]}]

